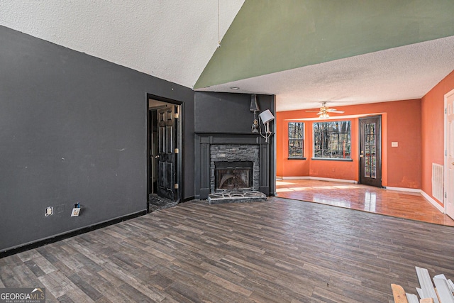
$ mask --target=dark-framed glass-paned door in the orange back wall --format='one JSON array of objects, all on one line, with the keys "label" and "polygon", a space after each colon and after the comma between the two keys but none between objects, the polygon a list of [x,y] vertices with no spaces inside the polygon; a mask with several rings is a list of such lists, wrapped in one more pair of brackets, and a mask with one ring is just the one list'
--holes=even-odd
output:
[{"label": "dark-framed glass-paned door in the orange back wall", "polygon": [[360,183],[382,187],[382,116],[360,119]]}]

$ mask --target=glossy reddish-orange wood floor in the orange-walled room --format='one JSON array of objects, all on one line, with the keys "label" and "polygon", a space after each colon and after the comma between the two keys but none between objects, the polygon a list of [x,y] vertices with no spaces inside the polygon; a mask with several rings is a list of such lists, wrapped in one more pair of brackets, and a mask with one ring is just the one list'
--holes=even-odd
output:
[{"label": "glossy reddish-orange wood floor in the orange-walled room", "polygon": [[276,188],[278,197],[454,226],[453,219],[419,193],[319,180],[277,180]]}]

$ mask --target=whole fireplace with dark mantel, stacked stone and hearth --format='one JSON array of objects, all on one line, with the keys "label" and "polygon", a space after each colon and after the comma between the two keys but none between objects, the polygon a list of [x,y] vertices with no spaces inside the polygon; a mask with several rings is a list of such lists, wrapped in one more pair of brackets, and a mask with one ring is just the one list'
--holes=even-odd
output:
[{"label": "whole fireplace with dark mantel, stacked stone and hearth", "polygon": [[210,204],[264,201],[270,144],[256,135],[196,134],[196,194]]}]

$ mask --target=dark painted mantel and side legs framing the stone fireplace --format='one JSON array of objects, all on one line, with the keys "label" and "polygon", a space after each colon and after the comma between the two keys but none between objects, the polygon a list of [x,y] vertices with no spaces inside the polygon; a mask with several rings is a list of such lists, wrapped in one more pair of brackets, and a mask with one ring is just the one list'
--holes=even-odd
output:
[{"label": "dark painted mantel and side legs framing the stone fireplace", "polygon": [[198,199],[207,199],[211,193],[210,171],[211,145],[258,145],[259,184],[258,191],[270,196],[270,142],[256,134],[243,133],[196,133],[195,136],[195,194]]}]

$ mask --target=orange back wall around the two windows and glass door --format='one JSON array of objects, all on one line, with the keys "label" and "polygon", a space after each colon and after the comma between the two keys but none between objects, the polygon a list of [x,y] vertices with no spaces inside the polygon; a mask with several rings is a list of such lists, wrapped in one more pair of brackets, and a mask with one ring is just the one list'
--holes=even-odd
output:
[{"label": "orange back wall around the two windows and glass door", "polygon": [[[382,185],[388,187],[421,188],[421,99],[389,101],[353,106],[336,106],[344,115],[382,115]],[[288,122],[310,119],[315,113],[306,110],[277,112],[277,175],[282,177],[326,177],[359,180],[359,120],[352,121],[352,162],[311,160],[312,123],[305,126],[304,155],[306,160],[289,160]],[[331,121],[336,116],[331,115]],[[341,120],[341,119],[338,119]],[[345,119],[343,119],[345,120]],[[321,120],[320,120],[321,121]],[[391,142],[398,142],[397,148]]]}]

